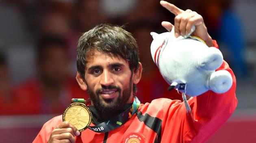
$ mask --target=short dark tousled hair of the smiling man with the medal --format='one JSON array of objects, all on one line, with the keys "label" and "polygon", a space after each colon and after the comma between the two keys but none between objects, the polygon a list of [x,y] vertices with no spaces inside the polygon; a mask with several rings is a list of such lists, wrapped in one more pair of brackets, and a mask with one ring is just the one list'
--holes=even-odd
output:
[{"label": "short dark tousled hair of the smiling man with the medal", "polygon": [[[132,34],[120,26],[100,24],[82,34],[78,40],[76,64],[84,80],[87,57],[93,49],[125,59],[132,73],[139,68],[138,45]],[[133,92],[136,92],[136,84],[133,84]]]}]

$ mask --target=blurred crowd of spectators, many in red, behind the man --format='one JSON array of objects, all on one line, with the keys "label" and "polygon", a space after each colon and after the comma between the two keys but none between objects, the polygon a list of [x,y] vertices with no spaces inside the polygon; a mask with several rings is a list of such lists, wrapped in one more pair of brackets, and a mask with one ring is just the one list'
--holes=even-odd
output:
[{"label": "blurred crowd of spectators, many in red, behind the man", "polygon": [[[243,26],[232,0],[171,2],[200,13],[236,76],[247,76]],[[167,91],[150,55],[150,32],[166,32],[161,21],[174,23],[174,17],[159,0],[0,0],[0,115],[62,114],[72,98],[87,99],[75,80],[76,42],[100,23],[124,25],[137,39],[142,103],[181,99]]]}]

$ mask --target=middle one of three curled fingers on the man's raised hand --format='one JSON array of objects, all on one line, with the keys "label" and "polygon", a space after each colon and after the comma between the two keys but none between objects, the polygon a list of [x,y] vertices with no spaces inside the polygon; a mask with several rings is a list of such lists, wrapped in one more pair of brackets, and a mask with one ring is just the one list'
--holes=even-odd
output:
[{"label": "middle one of three curled fingers on the man's raised hand", "polygon": [[189,18],[191,17],[192,11],[190,9],[186,10],[184,13],[180,14],[181,19],[180,19],[180,35],[184,36],[186,35],[186,26],[189,21]]}]

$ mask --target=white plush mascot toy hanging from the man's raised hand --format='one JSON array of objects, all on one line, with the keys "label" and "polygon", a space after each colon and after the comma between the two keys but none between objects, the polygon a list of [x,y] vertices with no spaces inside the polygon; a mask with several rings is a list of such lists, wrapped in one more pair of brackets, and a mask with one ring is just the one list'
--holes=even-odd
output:
[{"label": "white plush mascot toy hanging from the man's raised hand", "polygon": [[174,36],[174,28],[162,34],[151,32],[154,63],[170,85],[169,89],[175,88],[192,97],[208,90],[228,91],[232,86],[231,74],[226,70],[215,71],[223,62],[220,50],[190,36],[194,30],[193,26],[190,34],[178,38]]}]

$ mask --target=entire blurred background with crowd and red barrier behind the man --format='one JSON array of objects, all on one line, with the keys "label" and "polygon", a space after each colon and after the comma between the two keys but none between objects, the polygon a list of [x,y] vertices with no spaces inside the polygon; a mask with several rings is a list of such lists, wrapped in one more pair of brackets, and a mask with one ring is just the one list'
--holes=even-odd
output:
[{"label": "entire blurred background with crowd and red barrier behind the man", "polygon": [[[207,143],[253,142],[256,1],[171,2],[204,17],[237,78],[236,111]],[[150,32],[166,32],[161,21],[174,23],[174,15],[159,0],[0,0],[0,142],[32,142],[71,98],[88,98],[75,81],[76,42],[100,23],[125,25],[137,39],[144,67],[137,85],[142,103],[160,97],[181,99],[167,92],[168,85],[151,59]]]}]

